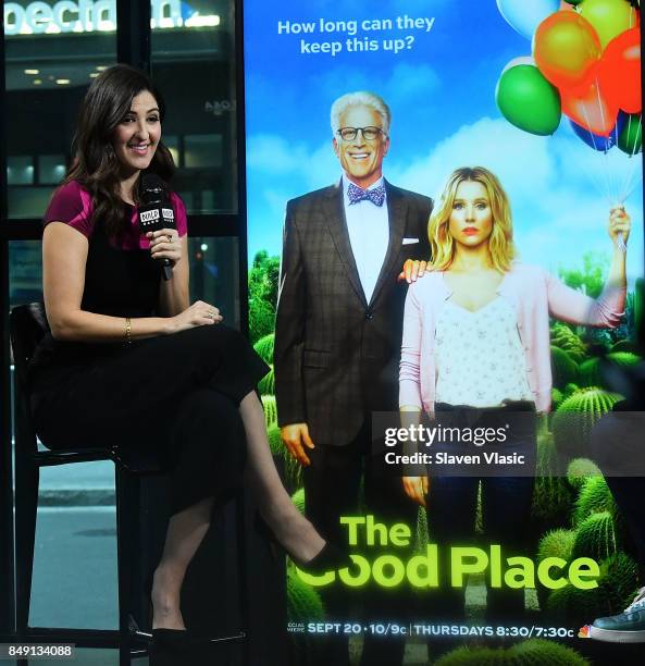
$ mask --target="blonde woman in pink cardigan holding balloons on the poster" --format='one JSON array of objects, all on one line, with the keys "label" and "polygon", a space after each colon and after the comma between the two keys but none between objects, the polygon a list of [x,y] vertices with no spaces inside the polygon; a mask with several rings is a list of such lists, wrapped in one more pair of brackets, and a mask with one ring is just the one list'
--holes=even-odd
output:
[{"label": "blonde woman in pink cardigan holding balloons on the poster", "polygon": [[[514,260],[506,193],[481,166],[458,169],[432,217],[432,261],[410,286],[406,300],[399,377],[399,406],[406,421],[425,411],[443,425],[503,429],[506,436],[468,453],[498,451],[524,456],[518,476],[489,469],[447,470],[455,476],[405,477],[406,493],[426,504],[433,541],[471,545],[477,489],[487,544],[504,556],[521,548],[531,508],[535,458],[535,412],[550,407],[549,316],[575,324],[618,325],[625,298],[625,254],[630,218],[616,208],[609,218],[613,255],[603,294],[594,300],[542,269]],[[464,437],[468,439],[468,437]],[[503,442],[506,440],[506,442]],[[469,445],[433,444],[432,453],[462,453]],[[430,449],[429,449],[430,451]],[[484,473],[486,476],[484,476]],[[469,476],[467,476],[469,474]],[[521,476],[520,476],[521,474]],[[443,566],[449,574],[449,564]],[[445,588],[449,587],[447,582]],[[463,590],[447,590],[444,610],[463,613]],[[523,590],[488,591],[489,617],[517,617]]]}]

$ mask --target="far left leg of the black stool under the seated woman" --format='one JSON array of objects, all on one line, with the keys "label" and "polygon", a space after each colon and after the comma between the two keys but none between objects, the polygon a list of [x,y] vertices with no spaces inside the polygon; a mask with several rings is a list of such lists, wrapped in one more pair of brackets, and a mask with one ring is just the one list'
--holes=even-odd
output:
[{"label": "far left leg of the black stool under the seated woman", "polygon": [[15,612],[21,636],[29,624],[40,473],[26,455],[17,452],[15,467]]}]

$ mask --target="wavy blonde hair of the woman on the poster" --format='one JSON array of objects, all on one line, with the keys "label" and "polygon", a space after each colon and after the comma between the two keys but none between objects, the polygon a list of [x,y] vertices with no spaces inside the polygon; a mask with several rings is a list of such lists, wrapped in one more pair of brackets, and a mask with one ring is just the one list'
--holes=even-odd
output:
[{"label": "wavy blonde hair of the woman on the poster", "polygon": [[483,166],[462,166],[450,174],[442,195],[441,205],[427,225],[432,249],[431,269],[445,271],[455,260],[455,240],[448,231],[448,225],[457,187],[464,181],[481,183],[486,189],[493,213],[493,232],[488,238],[491,263],[495,270],[506,273],[510,270],[517,256],[510,203],[497,176]]}]

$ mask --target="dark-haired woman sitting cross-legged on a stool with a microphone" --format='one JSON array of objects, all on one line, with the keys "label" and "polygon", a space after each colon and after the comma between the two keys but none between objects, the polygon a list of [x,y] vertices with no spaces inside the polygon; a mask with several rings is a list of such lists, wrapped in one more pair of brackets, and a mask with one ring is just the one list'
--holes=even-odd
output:
[{"label": "dark-haired woman sitting cross-legged on a stool with a microphone", "polygon": [[[113,66],[82,106],[76,159],[45,215],[44,292],[51,334],[30,368],[33,414],[48,446],[161,445],[172,517],[153,576],[153,629],[184,631],[179,590],[213,505],[248,480],[292,557],[332,568],[335,553],[300,516],[277,476],[255,393],[268,367],[216,307],[188,301],[186,211],[141,235],[141,173],[168,182],[164,104],[141,72]],[[161,280],[161,263],[172,267]],[[238,424],[244,422],[244,431]],[[246,432],[246,446],[244,436]],[[246,453],[245,453],[246,449]],[[161,636],[157,632],[157,636]]]}]

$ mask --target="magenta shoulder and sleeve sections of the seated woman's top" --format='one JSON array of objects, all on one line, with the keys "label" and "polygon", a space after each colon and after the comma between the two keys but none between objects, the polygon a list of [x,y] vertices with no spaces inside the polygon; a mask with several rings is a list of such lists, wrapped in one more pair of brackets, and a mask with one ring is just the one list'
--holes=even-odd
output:
[{"label": "magenta shoulder and sleeve sections of the seated woman's top", "polygon": [[[177,232],[179,236],[185,236],[188,231],[188,223],[184,201],[174,192],[170,194],[170,201],[175,212]],[[139,229],[137,207],[128,203],[125,206],[131,211],[131,225],[120,236],[121,249],[149,249],[150,242],[141,234]],[[45,225],[49,222],[65,222],[89,239],[94,232],[91,211],[91,195],[77,181],[71,181],[57,189],[47,207],[42,222]]]}]

